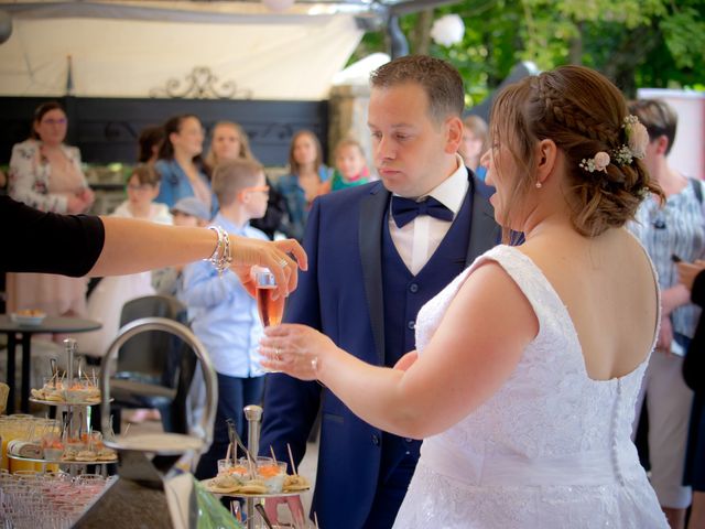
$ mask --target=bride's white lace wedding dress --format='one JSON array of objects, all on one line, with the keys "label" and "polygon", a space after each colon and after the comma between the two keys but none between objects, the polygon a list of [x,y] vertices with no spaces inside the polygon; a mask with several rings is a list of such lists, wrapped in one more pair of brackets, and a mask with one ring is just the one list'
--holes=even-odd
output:
[{"label": "bride's white lace wedding dress", "polygon": [[647,360],[621,378],[590,379],[566,307],[518,249],[488,251],[421,310],[420,354],[487,259],[521,288],[539,334],[495,396],[424,441],[394,528],[668,528],[630,441]]}]

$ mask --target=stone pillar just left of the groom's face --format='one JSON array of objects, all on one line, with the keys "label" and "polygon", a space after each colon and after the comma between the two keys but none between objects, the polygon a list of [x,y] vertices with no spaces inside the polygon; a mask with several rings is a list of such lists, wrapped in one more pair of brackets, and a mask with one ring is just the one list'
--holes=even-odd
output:
[{"label": "stone pillar just left of the groom's face", "polygon": [[367,127],[367,108],[370,102],[368,85],[340,85],[330,89],[328,117],[328,163],[335,165],[334,150],[338,141],[351,138],[360,142],[370,175],[376,176],[372,163],[372,144]]}]

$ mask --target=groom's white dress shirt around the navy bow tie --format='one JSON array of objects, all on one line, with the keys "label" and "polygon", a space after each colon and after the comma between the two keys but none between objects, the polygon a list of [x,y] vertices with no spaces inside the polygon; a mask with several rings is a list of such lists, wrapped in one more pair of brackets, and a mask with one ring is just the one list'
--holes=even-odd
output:
[{"label": "groom's white dress shirt around the navy bow tie", "polygon": [[[416,198],[417,201],[423,201],[427,196],[433,196],[453,212],[453,219],[460,210],[469,186],[465,162],[458,154],[456,154],[456,158],[458,169],[440,185],[431,190],[431,193]],[[400,228],[394,223],[390,206],[389,234],[399,256],[411,273],[416,276],[429,262],[429,259],[431,259],[431,256],[433,256],[433,252],[436,251],[448,229],[451,229],[452,224],[430,215],[419,215],[411,223]]]}]

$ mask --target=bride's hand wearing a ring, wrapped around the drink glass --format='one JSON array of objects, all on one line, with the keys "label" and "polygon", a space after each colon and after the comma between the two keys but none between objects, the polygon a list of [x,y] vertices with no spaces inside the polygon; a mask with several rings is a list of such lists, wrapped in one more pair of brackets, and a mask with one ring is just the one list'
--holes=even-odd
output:
[{"label": "bride's hand wearing a ring, wrapped around the drink glass", "polygon": [[301,380],[321,378],[326,359],[338,350],[325,334],[297,324],[267,327],[260,342],[262,367]]}]

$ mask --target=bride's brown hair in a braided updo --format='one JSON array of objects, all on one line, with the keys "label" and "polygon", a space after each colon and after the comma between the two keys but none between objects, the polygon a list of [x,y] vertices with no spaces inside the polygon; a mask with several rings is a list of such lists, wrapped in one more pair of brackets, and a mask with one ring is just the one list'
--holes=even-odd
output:
[{"label": "bride's brown hair in a braided updo", "polygon": [[[550,139],[565,156],[571,190],[566,199],[579,234],[595,237],[632,219],[649,195],[647,190],[658,195],[661,191],[650,182],[641,160],[618,164],[611,154],[628,143],[622,128],[626,116],[627,105],[617,87],[582,66],[561,66],[503,89],[492,107],[492,144],[505,143],[517,166],[523,169],[510,192],[509,206],[534,186],[535,145]],[[606,173],[581,168],[583,159],[600,151],[612,159]]]}]

